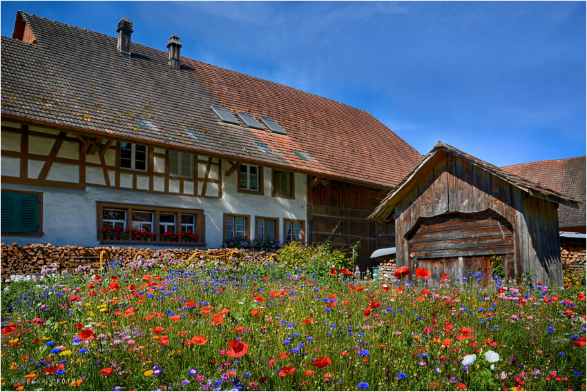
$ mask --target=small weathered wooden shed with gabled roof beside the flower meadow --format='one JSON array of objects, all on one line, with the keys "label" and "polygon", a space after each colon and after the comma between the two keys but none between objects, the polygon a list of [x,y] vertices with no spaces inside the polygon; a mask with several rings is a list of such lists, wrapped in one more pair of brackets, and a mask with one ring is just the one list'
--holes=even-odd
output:
[{"label": "small weathered wooden shed with gabled roof beside the flower meadow", "polygon": [[492,275],[562,284],[558,206],[572,199],[439,141],[369,219],[395,220],[396,263],[432,278]]}]

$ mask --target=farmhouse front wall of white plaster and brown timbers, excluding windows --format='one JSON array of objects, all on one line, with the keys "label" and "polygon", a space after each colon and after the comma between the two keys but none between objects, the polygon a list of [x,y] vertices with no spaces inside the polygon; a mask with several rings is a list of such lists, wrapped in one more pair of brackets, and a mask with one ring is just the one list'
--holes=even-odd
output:
[{"label": "farmhouse front wall of white plaster and brown timbers, excluding windows", "polygon": [[[202,210],[205,244],[198,246],[209,248],[222,246],[224,214],[249,216],[251,235],[256,233],[256,217],[275,219],[280,227],[285,220],[307,219],[307,175],[302,173],[294,173],[294,197],[273,197],[270,167],[260,167],[260,192],[242,193],[238,170],[231,170],[235,162],[218,157],[196,155],[193,178],[187,179],[169,175],[169,150],[158,146],[148,146],[148,170],[139,172],[120,168],[115,140],[21,128],[5,120],[1,140],[2,188],[42,193],[44,204],[44,235],[32,239],[3,234],[6,243],[99,246],[97,202]],[[282,242],[284,234],[279,231]],[[151,246],[161,247],[169,245]]]}]

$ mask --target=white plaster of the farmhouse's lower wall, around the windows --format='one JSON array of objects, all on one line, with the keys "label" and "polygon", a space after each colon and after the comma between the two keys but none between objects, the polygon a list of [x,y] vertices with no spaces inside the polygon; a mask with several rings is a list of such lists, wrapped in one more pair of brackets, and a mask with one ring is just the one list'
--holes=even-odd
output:
[{"label": "white plaster of the farmhouse's lower wall, around the windows", "polygon": [[[4,157],[2,157],[4,158]],[[3,161],[4,162],[4,161]],[[4,166],[4,165],[2,165]],[[230,167],[226,162],[222,168]],[[3,168],[4,169],[4,168]],[[280,241],[283,241],[284,219],[301,219],[307,226],[307,175],[296,173],[296,198],[271,197],[271,168],[264,169],[264,195],[238,193],[238,174],[230,177],[222,173],[222,199],[209,197],[189,197],[179,195],[160,195],[135,190],[112,189],[99,186],[86,186],[86,190],[50,188],[44,186],[25,186],[1,184],[3,189],[32,190],[43,193],[43,231],[44,237],[1,237],[1,242],[19,245],[48,243],[55,246],[68,244],[99,246],[97,239],[96,202],[142,204],[170,208],[193,208],[204,210],[206,219],[206,246],[222,246],[224,213],[250,215],[250,232],[255,233],[255,216],[279,218]],[[157,178],[155,177],[155,180]],[[217,184],[209,184],[216,186]],[[307,227],[305,228],[307,233]],[[150,246],[169,248],[169,246]]]}]

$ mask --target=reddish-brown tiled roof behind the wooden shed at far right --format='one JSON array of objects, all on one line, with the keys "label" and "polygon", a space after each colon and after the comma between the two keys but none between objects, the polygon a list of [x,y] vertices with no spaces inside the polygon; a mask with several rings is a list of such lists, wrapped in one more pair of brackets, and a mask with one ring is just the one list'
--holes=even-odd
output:
[{"label": "reddish-brown tiled roof behind the wooden shed at far right", "polygon": [[586,163],[587,157],[553,159],[550,161],[530,162],[529,164],[504,166],[503,170],[548,186],[579,202],[579,208],[560,206],[559,226],[586,226]]}]

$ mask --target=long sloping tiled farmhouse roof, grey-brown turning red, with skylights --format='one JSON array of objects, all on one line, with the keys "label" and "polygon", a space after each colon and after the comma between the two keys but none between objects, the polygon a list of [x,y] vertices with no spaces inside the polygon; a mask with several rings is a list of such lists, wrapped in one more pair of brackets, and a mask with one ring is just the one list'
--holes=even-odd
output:
[{"label": "long sloping tiled farmhouse roof, grey-brown turning red, with skylights", "polygon": [[[26,12],[18,23],[38,44],[1,38],[1,113],[8,117],[389,188],[422,157],[369,113],[330,99],[185,57],[173,70],[167,52],[137,43],[125,57],[115,37]],[[269,117],[287,136],[222,123],[211,106]]]}]

